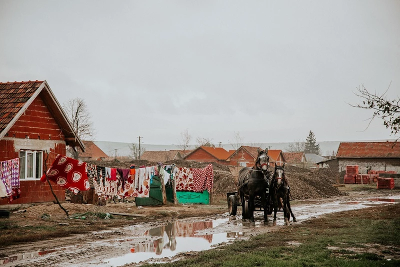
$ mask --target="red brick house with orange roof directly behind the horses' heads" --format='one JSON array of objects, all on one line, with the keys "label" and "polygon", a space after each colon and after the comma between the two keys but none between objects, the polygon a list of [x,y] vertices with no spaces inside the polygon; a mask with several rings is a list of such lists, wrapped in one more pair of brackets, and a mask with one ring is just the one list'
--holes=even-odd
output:
[{"label": "red brick house with orange roof directly behind the horses' heads", "polygon": [[[240,146],[234,153],[232,153],[229,158],[229,165],[232,166],[243,166],[243,167],[252,167],[254,166],[255,159],[257,158],[258,151],[257,148],[262,149],[260,147],[255,146]],[[269,165],[274,166],[276,162],[278,165],[283,164],[285,162],[282,150],[268,150],[269,156]]]}]

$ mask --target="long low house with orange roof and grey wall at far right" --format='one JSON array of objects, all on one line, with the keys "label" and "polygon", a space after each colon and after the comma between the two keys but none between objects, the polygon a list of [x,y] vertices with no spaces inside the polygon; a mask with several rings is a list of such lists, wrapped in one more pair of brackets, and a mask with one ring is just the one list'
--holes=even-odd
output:
[{"label": "long low house with orange roof and grey wall at far right", "polygon": [[358,165],[359,173],[394,170],[400,173],[400,142],[341,142],[337,149],[338,171]]}]

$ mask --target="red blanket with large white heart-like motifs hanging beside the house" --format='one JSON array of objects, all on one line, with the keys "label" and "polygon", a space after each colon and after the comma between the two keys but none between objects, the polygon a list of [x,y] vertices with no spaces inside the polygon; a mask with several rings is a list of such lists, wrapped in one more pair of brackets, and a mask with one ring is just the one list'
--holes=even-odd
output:
[{"label": "red blanket with large white heart-like motifs hanging beside the house", "polygon": [[[46,173],[49,180],[67,188],[74,194],[77,194],[80,190],[84,191],[90,188],[86,173],[86,163],[83,161],[57,155]],[[43,174],[40,180],[45,182],[46,175]]]}]

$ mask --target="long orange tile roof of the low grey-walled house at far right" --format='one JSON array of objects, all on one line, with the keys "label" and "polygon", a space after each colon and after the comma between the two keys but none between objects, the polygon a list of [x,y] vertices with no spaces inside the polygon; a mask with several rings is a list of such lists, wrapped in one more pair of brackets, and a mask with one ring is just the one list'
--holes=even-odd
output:
[{"label": "long orange tile roof of the low grey-walled house at far right", "polygon": [[341,142],[336,157],[400,157],[400,142]]}]

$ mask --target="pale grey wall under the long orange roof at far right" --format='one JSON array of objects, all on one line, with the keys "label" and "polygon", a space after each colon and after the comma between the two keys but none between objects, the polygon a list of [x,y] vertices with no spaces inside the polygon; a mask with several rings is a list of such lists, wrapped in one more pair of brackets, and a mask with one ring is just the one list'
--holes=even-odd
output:
[{"label": "pale grey wall under the long orange roof at far right", "polygon": [[338,171],[345,170],[346,165],[358,165],[361,174],[366,174],[367,168],[400,173],[400,158],[338,158]]}]

